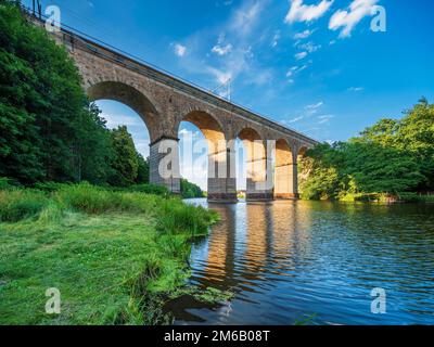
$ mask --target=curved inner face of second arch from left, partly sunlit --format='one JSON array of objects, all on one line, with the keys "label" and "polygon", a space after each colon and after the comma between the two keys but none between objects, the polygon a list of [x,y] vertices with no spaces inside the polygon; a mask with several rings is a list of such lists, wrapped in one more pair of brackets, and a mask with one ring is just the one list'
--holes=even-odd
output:
[{"label": "curved inner face of second arch from left, partly sunlit", "polygon": [[[224,127],[219,120],[205,111],[191,111],[184,115],[181,123],[194,125],[205,137],[207,142],[207,197],[208,201],[234,202],[237,201],[235,187],[230,184],[228,165],[227,139]],[[193,149],[192,149],[192,152]],[[193,155],[193,153],[189,154]],[[193,160],[191,160],[193,163]]]}]

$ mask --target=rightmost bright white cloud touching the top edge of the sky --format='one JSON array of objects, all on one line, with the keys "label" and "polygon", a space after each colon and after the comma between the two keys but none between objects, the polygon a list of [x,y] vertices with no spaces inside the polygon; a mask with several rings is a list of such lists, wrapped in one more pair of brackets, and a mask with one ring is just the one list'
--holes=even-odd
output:
[{"label": "rightmost bright white cloud touching the top edge of the sky", "polygon": [[352,36],[353,29],[367,15],[371,14],[372,8],[379,0],[354,0],[347,10],[336,11],[330,18],[329,29],[342,28],[340,38]]}]

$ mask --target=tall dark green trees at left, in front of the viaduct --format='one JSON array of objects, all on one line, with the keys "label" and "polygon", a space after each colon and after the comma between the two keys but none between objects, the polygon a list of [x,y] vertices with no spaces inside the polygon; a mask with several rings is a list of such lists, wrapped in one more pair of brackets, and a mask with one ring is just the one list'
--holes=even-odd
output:
[{"label": "tall dark green trees at left, in front of the viaduct", "polygon": [[0,7],[0,176],[104,181],[108,133],[66,50],[8,1]]}]

